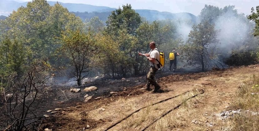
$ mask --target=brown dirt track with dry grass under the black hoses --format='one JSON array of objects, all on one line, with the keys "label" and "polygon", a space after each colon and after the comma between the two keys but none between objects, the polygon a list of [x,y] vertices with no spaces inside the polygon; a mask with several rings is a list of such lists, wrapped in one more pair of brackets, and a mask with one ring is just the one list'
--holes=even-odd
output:
[{"label": "brown dirt track with dry grass under the black hoses", "polygon": [[[215,114],[231,109],[230,105],[234,102],[239,84],[251,75],[259,75],[259,65],[202,73],[173,74],[159,80],[162,87],[159,93],[140,90],[145,85],[144,80],[138,83],[139,85],[126,88],[123,86],[125,83],[123,82],[120,83],[122,86],[116,85],[120,88],[118,94],[98,94],[94,98],[102,96],[101,99],[91,99],[86,103],[82,101],[77,103],[78,105],[76,105],[76,101],[64,104],[62,107],[70,108],[63,109],[63,113],[55,114],[54,117],[44,119],[40,124],[40,130],[45,128],[69,131],[104,130],[145,105],[193,90],[192,93],[181,96],[182,99],[175,98],[148,109],[142,109],[110,129],[140,130],[159,115],[180,104],[185,97],[197,94],[196,89],[204,89],[205,93],[188,100],[184,105],[152,124],[147,130],[229,130],[231,127],[228,126],[228,121],[219,119]],[[103,84],[105,87],[105,83]],[[150,117],[147,117],[149,115]],[[87,125],[90,126],[89,129],[87,129]]]}]

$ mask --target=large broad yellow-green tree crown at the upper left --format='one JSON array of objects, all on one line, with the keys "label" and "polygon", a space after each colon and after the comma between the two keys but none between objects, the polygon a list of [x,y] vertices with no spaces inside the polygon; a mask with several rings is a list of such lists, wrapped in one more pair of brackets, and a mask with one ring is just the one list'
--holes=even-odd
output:
[{"label": "large broad yellow-green tree crown at the upper left", "polygon": [[82,28],[83,23],[58,3],[50,6],[45,0],[34,0],[13,11],[0,26],[1,36],[21,41],[32,51],[32,59],[52,59],[59,42],[55,37],[67,29]]}]

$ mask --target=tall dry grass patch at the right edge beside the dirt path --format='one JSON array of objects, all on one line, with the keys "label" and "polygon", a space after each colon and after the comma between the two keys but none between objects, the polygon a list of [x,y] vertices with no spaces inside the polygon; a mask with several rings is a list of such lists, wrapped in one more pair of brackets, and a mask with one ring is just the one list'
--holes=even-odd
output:
[{"label": "tall dry grass patch at the right edge beside the dirt path", "polygon": [[[254,93],[254,95],[252,95]],[[232,104],[233,109],[244,109],[256,112],[244,112],[236,115],[231,120],[232,130],[236,131],[258,131],[259,130],[259,77],[252,75],[244,81],[237,94],[236,100]]]}]

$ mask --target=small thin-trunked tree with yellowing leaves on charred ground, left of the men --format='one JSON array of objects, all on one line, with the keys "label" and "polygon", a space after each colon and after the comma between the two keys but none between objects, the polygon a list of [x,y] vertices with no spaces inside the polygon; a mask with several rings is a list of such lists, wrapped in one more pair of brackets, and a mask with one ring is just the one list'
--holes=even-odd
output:
[{"label": "small thin-trunked tree with yellowing leaves on charred ground, left of the men", "polygon": [[95,41],[91,32],[81,33],[79,30],[67,31],[60,38],[63,42],[61,51],[69,59],[70,78],[77,81],[80,86],[82,80],[89,74],[92,68],[92,57],[96,54]]}]

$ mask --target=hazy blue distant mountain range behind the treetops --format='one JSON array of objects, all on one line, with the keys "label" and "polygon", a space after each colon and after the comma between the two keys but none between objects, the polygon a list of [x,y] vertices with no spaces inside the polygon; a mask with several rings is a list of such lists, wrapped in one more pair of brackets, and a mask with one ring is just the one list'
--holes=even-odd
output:
[{"label": "hazy blue distant mountain range behind the treetops", "polygon": [[[53,6],[57,2],[48,1]],[[87,4],[75,4],[75,3],[60,3],[63,7],[66,7],[69,12],[75,13],[82,20],[86,18],[92,18],[98,16],[102,21],[106,21],[110,12],[116,8],[104,7],[104,6],[93,6]],[[17,10],[18,7],[26,6],[27,2],[16,2],[11,0],[0,0],[0,15],[8,16],[13,10]],[[196,22],[197,17],[191,13],[170,13],[170,12],[159,12],[156,10],[140,10],[136,9],[136,12],[140,16],[145,17],[148,21],[161,20],[161,19],[187,19],[192,22]]]}]

